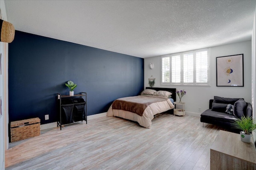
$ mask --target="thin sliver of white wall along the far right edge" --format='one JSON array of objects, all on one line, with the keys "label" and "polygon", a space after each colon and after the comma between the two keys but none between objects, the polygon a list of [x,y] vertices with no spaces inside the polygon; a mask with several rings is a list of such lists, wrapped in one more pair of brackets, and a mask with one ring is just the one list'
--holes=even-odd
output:
[{"label": "thin sliver of white wall along the far right edge", "polygon": [[[252,28],[252,113],[256,119],[256,12],[254,15]],[[254,141],[256,142],[256,132],[253,133]]]}]

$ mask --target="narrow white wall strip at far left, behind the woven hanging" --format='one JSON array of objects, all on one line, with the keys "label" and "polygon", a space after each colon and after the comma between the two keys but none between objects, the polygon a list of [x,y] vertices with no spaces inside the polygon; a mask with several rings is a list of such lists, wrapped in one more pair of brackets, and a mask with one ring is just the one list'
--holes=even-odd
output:
[{"label": "narrow white wall strip at far left, behind the woven hanging", "polygon": [[[0,0],[2,20],[7,21],[4,0]],[[0,75],[0,96],[2,97],[2,115],[0,115],[0,170],[5,169],[4,150],[8,148],[8,43],[0,42],[2,53],[2,74]]]}]

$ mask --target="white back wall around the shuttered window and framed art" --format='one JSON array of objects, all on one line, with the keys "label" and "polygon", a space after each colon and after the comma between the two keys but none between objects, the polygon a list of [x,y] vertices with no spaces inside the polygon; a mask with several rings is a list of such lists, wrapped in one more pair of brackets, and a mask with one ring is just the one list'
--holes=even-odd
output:
[{"label": "white back wall around the shuttered window and framed art", "polygon": [[[216,57],[244,54],[244,87],[217,87],[216,86]],[[161,57],[144,59],[144,87],[149,87],[148,78],[153,75],[156,78],[155,87],[176,88],[185,90],[187,94],[182,98],[185,102],[186,114],[200,116],[208,109],[209,100],[214,96],[228,98],[244,98],[246,102],[251,102],[251,73],[252,73],[252,44],[251,41],[221,45],[210,48],[210,86],[161,86],[160,85],[160,63]],[[154,63],[154,69],[149,68],[149,64]],[[178,96],[176,96],[178,98]],[[201,111],[198,111],[201,107]]]}]

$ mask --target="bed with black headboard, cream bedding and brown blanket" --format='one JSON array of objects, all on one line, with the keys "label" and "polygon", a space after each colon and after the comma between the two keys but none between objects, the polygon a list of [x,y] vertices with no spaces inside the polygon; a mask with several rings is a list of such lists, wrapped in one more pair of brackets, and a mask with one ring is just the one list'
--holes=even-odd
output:
[{"label": "bed with black headboard, cream bedding and brown blanket", "polygon": [[136,121],[141,126],[150,129],[154,115],[174,109],[172,102],[175,101],[176,88],[146,87],[139,96],[115,100],[108,109],[107,116]]}]

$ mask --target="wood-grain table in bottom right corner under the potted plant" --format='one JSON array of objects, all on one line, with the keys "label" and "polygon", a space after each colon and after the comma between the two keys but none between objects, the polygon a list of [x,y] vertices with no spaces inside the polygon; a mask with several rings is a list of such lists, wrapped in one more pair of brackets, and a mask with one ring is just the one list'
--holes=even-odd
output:
[{"label": "wood-grain table in bottom right corner under the potted plant", "polygon": [[220,130],[210,149],[211,170],[255,170],[254,141],[242,142],[240,135]]}]

